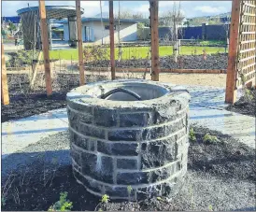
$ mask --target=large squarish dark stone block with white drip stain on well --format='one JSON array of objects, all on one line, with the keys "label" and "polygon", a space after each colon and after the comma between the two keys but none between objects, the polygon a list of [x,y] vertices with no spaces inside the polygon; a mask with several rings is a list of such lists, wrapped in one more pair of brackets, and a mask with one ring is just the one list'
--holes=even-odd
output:
[{"label": "large squarish dark stone block with white drip stain on well", "polygon": [[83,152],[82,174],[102,182],[113,183],[113,159],[101,154]]}]

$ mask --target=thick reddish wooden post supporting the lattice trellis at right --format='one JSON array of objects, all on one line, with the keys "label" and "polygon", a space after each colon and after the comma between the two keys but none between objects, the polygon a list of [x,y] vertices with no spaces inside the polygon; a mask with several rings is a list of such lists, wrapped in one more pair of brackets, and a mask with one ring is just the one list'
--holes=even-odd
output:
[{"label": "thick reddish wooden post supporting the lattice trellis at right", "polygon": [[239,21],[240,21],[240,0],[233,0],[231,24],[230,24],[230,45],[228,56],[228,69],[226,79],[225,102],[234,104],[236,100],[236,75],[237,75],[237,52],[239,40]]}]

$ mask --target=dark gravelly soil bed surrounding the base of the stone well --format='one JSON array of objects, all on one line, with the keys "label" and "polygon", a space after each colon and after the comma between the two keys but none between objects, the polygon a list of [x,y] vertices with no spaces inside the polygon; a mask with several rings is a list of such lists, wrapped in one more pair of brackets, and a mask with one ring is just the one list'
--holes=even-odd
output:
[{"label": "dark gravelly soil bed surrounding the base of the stone well", "polygon": [[[4,160],[2,208],[48,210],[59,200],[60,192],[67,191],[72,210],[256,209],[254,149],[225,134],[200,126],[193,129],[197,140],[189,148],[187,177],[173,199],[151,198],[135,203],[110,200],[107,205],[98,205],[101,198],[87,192],[73,177],[68,133],[64,132],[50,135]],[[204,143],[206,133],[216,135],[219,141]]]}]

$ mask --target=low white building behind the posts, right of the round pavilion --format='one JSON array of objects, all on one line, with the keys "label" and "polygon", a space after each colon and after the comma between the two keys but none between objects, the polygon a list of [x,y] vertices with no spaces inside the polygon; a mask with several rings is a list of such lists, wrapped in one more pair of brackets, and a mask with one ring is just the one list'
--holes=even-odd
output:
[{"label": "low white building behind the posts, right of the round pavilion", "polygon": [[[100,18],[82,18],[83,42],[109,43],[109,20],[103,19],[103,27]],[[64,40],[69,40],[68,21],[64,23]],[[137,40],[137,21],[120,20],[120,37],[122,42]],[[118,21],[115,21],[115,42],[118,42]]]}]

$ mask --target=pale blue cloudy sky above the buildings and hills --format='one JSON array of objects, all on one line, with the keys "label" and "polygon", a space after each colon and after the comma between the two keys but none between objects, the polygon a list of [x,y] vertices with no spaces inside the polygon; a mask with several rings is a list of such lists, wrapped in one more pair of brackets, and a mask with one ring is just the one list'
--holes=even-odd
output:
[{"label": "pale blue cloudy sky above the buildings and hills", "polygon": [[[159,12],[163,13],[171,10],[174,2],[179,1],[160,1]],[[1,16],[17,16],[17,10],[22,7],[38,6],[38,1],[2,1]],[[120,1],[121,10],[141,12],[145,17],[149,16],[149,1]],[[180,1],[182,12],[186,18],[212,16],[231,11],[231,1]],[[75,1],[46,1],[47,6],[75,6]],[[84,8],[84,17],[93,17],[100,13],[99,1],[81,1]],[[114,10],[118,11],[119,3],[114,2]],[[103,12],[108,12],[108,2],[102,1]]]}]

